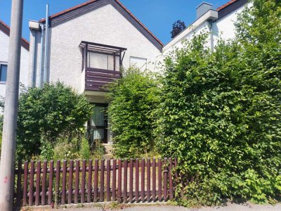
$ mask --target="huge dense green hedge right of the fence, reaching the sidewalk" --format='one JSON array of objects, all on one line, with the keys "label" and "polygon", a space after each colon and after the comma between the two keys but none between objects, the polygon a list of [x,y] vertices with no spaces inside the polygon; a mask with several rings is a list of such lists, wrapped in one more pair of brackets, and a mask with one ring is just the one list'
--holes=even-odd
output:
[{"label": "huge dense green hedge right of the fence, reaching the sidewalk", "polygon": [[280,4],[255,0],[214,53],[199,34],[165,60],[157,143],[189,181],[183,205],[280,198]]}]

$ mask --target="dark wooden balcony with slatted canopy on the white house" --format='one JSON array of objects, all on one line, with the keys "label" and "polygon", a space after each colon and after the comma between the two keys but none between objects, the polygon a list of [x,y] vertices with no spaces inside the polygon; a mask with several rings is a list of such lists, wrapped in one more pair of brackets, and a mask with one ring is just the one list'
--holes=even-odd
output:
[{"label": "dark wooden balcony with slatted canopy on the white house", "polygon": [[83,52],[82,89],[106,91],[105,85],[121,77],[120,68],[126,49],[81,41]]}]

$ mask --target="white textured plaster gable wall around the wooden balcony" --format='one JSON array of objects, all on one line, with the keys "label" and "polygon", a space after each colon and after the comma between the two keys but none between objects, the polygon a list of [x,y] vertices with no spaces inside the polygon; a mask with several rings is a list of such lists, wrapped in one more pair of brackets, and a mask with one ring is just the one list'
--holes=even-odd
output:
[{"label": "white textured plaster gable wall around the wooden balcony", "polygon": [[[49,39],[49,82],[58,80],[81,92],[81,41],[124,47],[124,68],[129,68],[130,56],[147,58],[148,69],[159,50],[129,23],[112,5],[108,4],[65,23],[51,27]],[[40,33],[37,33],[37,64],[40,58]],[[32,43],[32,39],[30,39]],[[32,50],[32,47],[30,48]],[[32,53],[30,53],[32,56]],[[39,64],[37,65],[37,82]]]}]

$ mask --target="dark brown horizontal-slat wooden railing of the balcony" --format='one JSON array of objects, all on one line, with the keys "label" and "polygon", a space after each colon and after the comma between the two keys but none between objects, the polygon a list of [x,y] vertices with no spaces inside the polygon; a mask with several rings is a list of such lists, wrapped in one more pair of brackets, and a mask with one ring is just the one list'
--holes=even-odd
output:
[{"label": "dark brown horizontal-slat wooden railing of the balcony", "polygon": [[86,68],[85,91],[106,91],[105,85],[120,77],[119,71]]}]

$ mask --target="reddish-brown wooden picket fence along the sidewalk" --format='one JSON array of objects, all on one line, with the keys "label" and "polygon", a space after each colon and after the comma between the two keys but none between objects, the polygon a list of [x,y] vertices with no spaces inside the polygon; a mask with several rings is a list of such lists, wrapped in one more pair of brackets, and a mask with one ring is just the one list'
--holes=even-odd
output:
[{"label": "reddish-brown wooden picket fence along the sidewalk", "polygon": [[37,206],[168,200],[174,198],[175,166],[172,158],[19,162],[15,201]]}]

